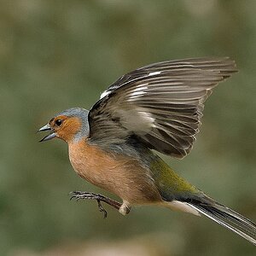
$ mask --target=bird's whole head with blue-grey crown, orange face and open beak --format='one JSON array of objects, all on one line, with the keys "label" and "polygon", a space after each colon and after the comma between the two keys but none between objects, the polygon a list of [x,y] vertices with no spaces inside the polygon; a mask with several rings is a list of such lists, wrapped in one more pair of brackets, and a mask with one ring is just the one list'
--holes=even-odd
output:
[{"label": "bird's whole head with blue-grey crown, orange face and open beak", "polygon": [[84,108],[69,108],[58,113],[39,131],[50,131],[40,142],[49,141],[55,137],[67,143],[89,136],[89,111]]}]

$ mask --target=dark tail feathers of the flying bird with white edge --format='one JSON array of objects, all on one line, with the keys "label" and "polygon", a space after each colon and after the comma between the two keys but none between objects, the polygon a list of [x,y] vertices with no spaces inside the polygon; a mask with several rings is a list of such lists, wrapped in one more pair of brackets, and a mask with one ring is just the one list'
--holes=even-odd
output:
[{"label": "dark tail feathers of the flying bird with white edge", "polygon": [[233,210],[230,210],[228,207],[218,204],[216,201],[212,201],[212,199],[209,203],[192,201],[188,204],[198,212],[201,212],[208,218],[212,218],[212,220],[216,221],[218,224],[232,230],[256,246],[256,224],[251,220],[241,216],[241,214]]}]

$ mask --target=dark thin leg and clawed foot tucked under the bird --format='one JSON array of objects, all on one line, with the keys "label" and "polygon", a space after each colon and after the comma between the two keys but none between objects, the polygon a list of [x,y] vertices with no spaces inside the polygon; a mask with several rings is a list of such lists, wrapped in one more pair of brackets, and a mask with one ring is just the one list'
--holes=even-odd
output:
[{"label": "dark thin leg and clawed foot tucked under the bird", "polygon": [[[90,192],[83,192],[83,191],[73,191],[70,192],[69,194],[72,195],[70,200],[75,199],[76,201],[79,201],[80,199],[91,199],[91,200],[96,200],[98,203],[98,207],[100,212],[103,212],[103,218],[107,218],[108,212],[102,207],[101,201],[107,203],[109,206],[116,208],[117,210],[120,209],[122,206],[121,203],[118,201],[114,201],[113,199],[105,196],[105,195],[100,195],[100,194],[95,194],[95,193],[90,193]],[[128,214],[130,212],[130,208],[126,207],[125,213]]]}]

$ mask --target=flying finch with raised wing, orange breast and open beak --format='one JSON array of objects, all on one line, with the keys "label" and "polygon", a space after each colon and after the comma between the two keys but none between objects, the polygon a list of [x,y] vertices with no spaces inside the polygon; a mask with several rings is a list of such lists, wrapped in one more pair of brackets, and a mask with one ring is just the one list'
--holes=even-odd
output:
[{"label": "flying finch with raised wing, orange breast and open beak", "polygon": [[256,245],[256,224],[177,175],[160,154],[183,159],[199,132],[212,89],[237,72],[230,57],[161,61],[126,73],[90,110],[69,108],[39,131],[40,142],[60,138],[75,172],[122,202],[73,191],[77,200],[105,202],[123,215],[136,206],[160,206],[205,215]]}]

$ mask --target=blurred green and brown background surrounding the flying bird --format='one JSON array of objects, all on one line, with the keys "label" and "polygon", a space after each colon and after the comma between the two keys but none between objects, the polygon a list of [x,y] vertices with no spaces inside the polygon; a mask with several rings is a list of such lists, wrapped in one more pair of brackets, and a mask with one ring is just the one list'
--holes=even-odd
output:
[{"label": "blurred green and brown background surrounding the flying bird", "polygon": [[[95,201],[69,201],[85,183],[61,141],[39,127],[90,108],[115,79],[169,59],[225,56],[240,73],[214,90],[183,177],[256,220],[256,1],[0,2],[1,255],[253,255],[207,218],[138,207],[126,217]],[[255,255],[255,254],[254,254]]]}]

